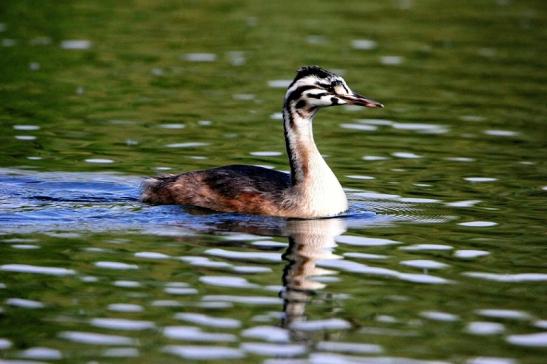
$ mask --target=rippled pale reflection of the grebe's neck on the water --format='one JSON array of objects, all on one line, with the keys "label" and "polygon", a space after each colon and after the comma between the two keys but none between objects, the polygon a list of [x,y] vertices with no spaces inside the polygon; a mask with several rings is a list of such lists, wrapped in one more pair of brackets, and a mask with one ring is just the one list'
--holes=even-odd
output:
[{"label": "rippled pale reflection of the grebe's neck on the water", "polygon": [[346,231],[344,219],[289,220],[287,222],[289,247],[283,254],[288,263],[283,270],[284,318],[282,326],[290,327],[304,320],[306,304],[317,290],[325,287],[317,278],[333,271],[316,266],[320,259],[341,259],[332,250],[335,238]]}]

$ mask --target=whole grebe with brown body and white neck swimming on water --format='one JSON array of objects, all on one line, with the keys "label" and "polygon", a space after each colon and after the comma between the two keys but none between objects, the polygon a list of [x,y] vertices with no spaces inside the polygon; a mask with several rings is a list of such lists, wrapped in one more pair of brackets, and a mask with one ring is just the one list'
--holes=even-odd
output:
[{"label": "whole grebe with brown body and white neck swimming on water", "polygon": [[313,140],[312,120],[322,107],[383,107],[350,90],[344,79],[317,66],[302,67],[283,105],[290,175],[267,168],[230,165],[144,181],[141,200],[193,205],[223,212],[317,218],[348,208],[346,194]]}]

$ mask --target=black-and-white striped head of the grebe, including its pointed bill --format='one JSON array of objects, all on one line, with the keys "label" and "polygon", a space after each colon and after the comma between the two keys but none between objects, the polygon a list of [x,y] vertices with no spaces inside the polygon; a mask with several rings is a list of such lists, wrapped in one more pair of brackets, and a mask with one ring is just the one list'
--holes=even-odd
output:
[{"label": "black-and-white striped head of the grebe, including its pointed bill", "polygon": [[318,66],[300,68],[285,94],[286,107],[306,113],[315,113],[321,107],[345,104],[384,107],[353,92],[341,76]]}]

